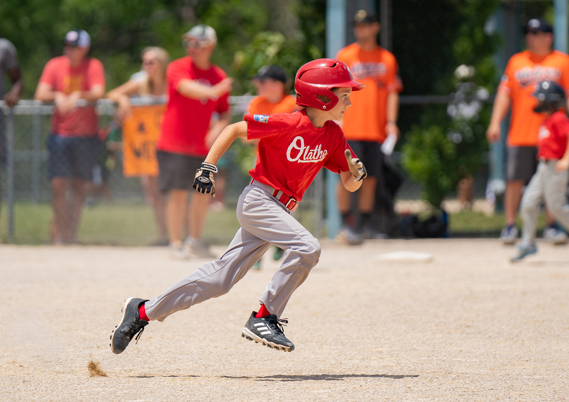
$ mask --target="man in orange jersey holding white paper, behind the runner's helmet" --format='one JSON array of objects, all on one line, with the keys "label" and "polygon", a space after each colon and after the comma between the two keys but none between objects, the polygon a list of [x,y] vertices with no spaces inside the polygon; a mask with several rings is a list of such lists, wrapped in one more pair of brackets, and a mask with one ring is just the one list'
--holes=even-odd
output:
[{"label": "man in orange jersey holding white paper, behind the runner's helmet", "polygon": [[348,244],[360,244],[364,238],[385,237],[374,228],[371,215],[376,187],[384,185],[381,143],[389,134],[399,135],[397,114],[403,86],[395,56],[377,44],[381,29],[377,15],[359,10],[353,24],[357,42],[340,50],[336,59],[348,64],[354,80],[366,85],[364,91],[352,94],[352,107],[345,112],[342,126],[348,143],[368,169],[368,179],[358,190],[357,209],[361,219],[356,228],[349,224],[351,193],[340,186],[338,203],[343,225],[340,237]]}]

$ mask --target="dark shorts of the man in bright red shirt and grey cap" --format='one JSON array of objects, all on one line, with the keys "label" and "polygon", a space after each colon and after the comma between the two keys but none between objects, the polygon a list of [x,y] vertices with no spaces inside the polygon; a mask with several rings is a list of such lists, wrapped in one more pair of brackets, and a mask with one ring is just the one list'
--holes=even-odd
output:
[{"label": "dark shorts of the man in bright red shirt and grey cap", "polygon": [[196,170],[200,169],[203,157],[190,157],[187,155],[172,154],[170,152],[156,151],[158,159],[158,188],[163,193],[170,190],[191,190]]}]

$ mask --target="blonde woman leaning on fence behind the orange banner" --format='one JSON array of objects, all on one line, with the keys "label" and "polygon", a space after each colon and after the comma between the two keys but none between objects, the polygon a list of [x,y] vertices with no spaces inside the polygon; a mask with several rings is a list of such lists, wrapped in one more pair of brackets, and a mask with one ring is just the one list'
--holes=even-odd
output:
[{"label": "blonde woman leaning on fence behind the orange banner", "polygon": [[[122,121],[131,114],[131,96],[163,97],[166,94],[166,67],[170,62],[168,52],[161,47],[147,47],[142,51],[142,71],[131,77],[130,81],[107,93],[107,97],[117,102],[117,120]],[[154,208],[160,239],[156,245],[168,245],[164,200],[158,190],[158,177],[141,175],[145,198]]]}]

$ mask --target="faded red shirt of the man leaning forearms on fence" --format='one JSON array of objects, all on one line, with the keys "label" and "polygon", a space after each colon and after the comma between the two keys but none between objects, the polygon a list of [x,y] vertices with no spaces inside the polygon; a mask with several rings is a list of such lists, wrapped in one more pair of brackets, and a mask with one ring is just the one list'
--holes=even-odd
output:
[{"label": "faded red shirt of the man leaning forearms on fence", "polygon": [[[51,86],[53,91],[69,95],[76,91],[90,91],[93,85],[105,87],[105,70],[101,61],[86,58],[77,67],[71,67],[67,56],[59,56],[47,62],[40,83]],[[64,137],[94,136],[98,132],[95,108],[77,108],[67,114],[55,110],[51,118],[51,131]]]}]

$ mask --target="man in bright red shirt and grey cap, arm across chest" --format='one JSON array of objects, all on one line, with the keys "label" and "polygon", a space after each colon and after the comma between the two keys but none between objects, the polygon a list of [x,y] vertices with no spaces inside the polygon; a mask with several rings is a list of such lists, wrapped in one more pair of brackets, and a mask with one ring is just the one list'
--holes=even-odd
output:
[{"label": "man in bright red shirt and grey cap, arm across chest", "polygon": [[[229,124],[228,94],[233,80],[211,63],[217,44],[212,27],[197,25],[182,38],[188,55],[172,61],[166,71],[168,104],[156,144],[158,186],[168,195],[166,225],[172,256],[187,258],[189,249],[197,256],[213,257],[201,240],[211,196],[193,192],[189,207],[186,205],[193,172],[199,169],[209,148]],[[214,112],[219,118],[210,125]],[[189,233],[184,244],[182,227],[186,209]]]}]

